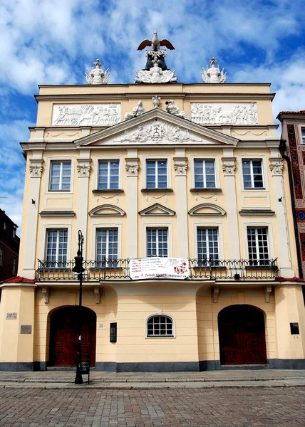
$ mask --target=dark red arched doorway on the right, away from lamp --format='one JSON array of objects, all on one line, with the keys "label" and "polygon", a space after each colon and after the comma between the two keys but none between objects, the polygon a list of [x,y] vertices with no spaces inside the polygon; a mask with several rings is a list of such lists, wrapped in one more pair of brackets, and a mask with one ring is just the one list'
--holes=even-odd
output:
[{"label": "dark red arched doorway on the right, away from lamp", "polygon": [[218,315],[221,364],[267,363],[264,315],[251,305],[231,305]]}]

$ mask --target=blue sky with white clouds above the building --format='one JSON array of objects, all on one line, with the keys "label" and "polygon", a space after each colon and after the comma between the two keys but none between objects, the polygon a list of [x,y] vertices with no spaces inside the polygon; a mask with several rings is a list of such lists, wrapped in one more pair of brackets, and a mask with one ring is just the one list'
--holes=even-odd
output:
[{"label": "blue sky with white clouds above the building", "polygon": [[[37,85],[84,84],[100,58],[109,83],[133,83],[137,47],[156,28],[175,51],[181,83],[202,83],[212,56],[227,83],[272,83],[274,120],[305,109],[304,0],[1,0],[0,207],[19,226],[24,158],[19,142],[36,120]],[[276,120],[275,120],[276,122]]]}]

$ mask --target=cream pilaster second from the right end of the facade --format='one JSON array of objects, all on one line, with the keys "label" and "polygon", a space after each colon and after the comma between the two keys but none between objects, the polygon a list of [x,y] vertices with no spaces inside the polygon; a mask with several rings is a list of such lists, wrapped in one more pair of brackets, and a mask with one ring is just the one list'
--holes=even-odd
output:
[{"label": "cream pilaster second from the right end of the facade", "polygon": [[235,186],[235,157],[233,157],[233,149],[224,149],[224,157],[222,157],[222,171],[224,173],[224,194],[227,204],[227,236],[229,246],[229,259],[239,260],[239,231],[238,231],[238,212],[237,212],[237,196]]}]

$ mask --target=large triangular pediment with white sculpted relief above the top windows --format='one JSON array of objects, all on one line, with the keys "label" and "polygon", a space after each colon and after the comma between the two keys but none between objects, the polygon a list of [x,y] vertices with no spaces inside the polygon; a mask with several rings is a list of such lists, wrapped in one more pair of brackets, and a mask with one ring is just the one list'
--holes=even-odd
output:
[{"label": "large triangular pediment with white sculpted relief above the top windows", "polygon": [[142,145],[237,145],[238,139],[155,108],[76,139],[76,147]]}]

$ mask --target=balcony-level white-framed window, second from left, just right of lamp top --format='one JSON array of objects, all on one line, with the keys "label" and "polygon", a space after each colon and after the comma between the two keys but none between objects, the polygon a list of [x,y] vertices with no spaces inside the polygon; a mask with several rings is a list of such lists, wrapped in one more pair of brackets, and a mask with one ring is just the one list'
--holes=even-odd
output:
[{"label": "balcony-level white-framed window, second from left, just right of lamp top", "polygon": [[118,265],[118,228],[96,231],[96,262],[101,268]]}]

